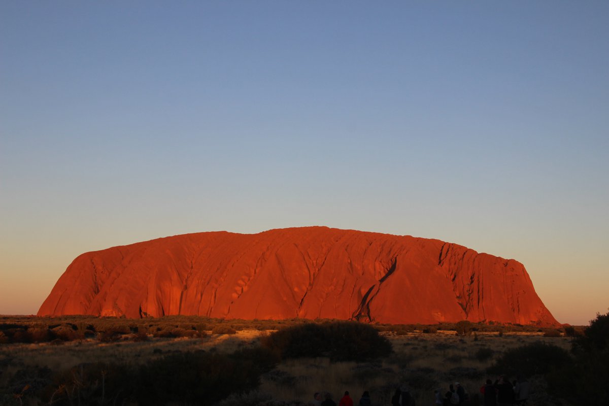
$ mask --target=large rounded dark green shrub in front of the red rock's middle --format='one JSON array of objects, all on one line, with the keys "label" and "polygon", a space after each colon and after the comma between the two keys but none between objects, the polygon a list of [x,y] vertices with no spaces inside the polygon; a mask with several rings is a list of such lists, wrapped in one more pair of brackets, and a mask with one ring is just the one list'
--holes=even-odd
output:
[{"label": "large rounded dark green shrub in front of the red rock's middle", "polygon": [[287,327],[262,338],[261,342],[282,358],[363,361],[385,357],[392,351],[389,340],[381,337],[374,327],[345,321]]}]

